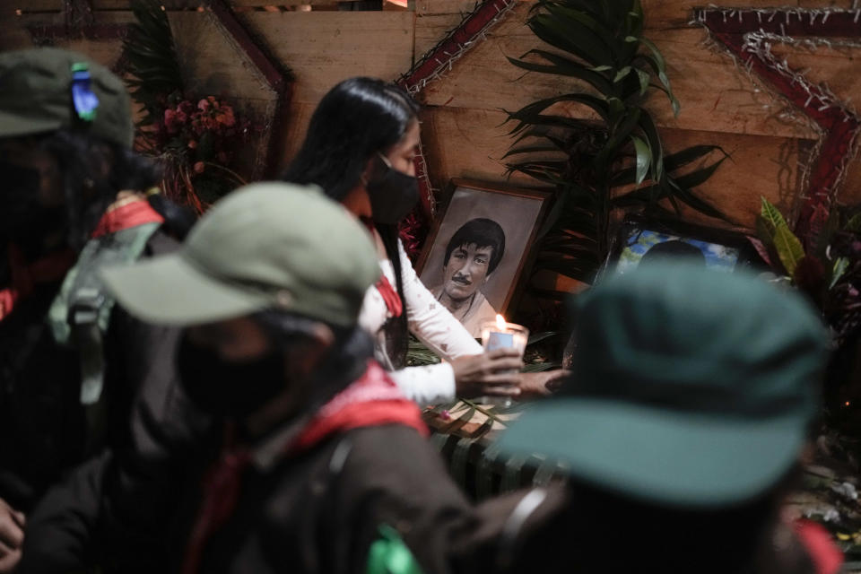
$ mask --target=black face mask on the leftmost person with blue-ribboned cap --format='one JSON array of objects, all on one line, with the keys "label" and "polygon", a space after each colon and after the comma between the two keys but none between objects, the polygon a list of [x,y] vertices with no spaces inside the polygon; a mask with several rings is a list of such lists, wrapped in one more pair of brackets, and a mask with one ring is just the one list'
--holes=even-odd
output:
[{"label": "black face mask on the leftmost person with blue-ribboned cap", "polygon": [[65,207],[39,203],[39,170],[0,160],[0,238],[28,255],[37,255],[42,241],[63,230]]}]

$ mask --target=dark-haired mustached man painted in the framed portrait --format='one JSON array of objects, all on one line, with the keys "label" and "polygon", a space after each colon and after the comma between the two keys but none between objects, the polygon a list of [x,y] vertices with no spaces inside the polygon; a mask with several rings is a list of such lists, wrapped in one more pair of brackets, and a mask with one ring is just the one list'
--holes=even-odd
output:
[{"label": "dark-haired mustached man painted in the framed portrait", "polygon": [[448,240],[442,284],[433,292],[473,336],[496,309],[483,293],[505,254],[505,232],[499,223],[479,217],[465,222]]}]

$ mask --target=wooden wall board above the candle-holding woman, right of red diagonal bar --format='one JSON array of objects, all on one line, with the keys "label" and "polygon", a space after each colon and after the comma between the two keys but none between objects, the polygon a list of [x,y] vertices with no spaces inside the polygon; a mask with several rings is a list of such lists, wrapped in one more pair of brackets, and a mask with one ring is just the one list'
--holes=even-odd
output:
[{"label": "wooden wall board above the candle-holding woman, right of red diagonal bar", "polygon": [[299,102],[316,104],[356,75],[395,80],[413,62],[412,12],[261,12],[244,19],[295,74]]}]

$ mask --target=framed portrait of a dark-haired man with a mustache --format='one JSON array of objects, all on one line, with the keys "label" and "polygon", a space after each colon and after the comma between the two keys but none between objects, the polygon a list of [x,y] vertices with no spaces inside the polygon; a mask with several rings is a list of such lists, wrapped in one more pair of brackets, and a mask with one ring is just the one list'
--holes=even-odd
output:
[{"label": "framed portrait of a dark-haired man with a mustache", "polygon": [[466,179],[452,187],[416,268],[434,297],[480,336],[485,321],[509,311],[550,194]]}]

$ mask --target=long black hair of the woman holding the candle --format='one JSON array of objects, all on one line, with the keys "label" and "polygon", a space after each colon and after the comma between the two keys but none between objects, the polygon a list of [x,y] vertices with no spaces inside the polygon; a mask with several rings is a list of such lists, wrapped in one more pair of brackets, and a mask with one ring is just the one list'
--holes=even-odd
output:
[{"label": "long black hair of the woman holding the candle", "polygon": [[[283,174],[291,183],[317,184],[336,201],[361,182],[368,161],[385,154],[418,118],[418,105],[394,83],[351,78],[337,84],[311,117],[308,135],[296,159]],[[404,300],[397,226],[376,224],[386,254],[395,268],[397,292]],[[384,326],[389,359],[404,365],[407,350],[406,309]]]}]

